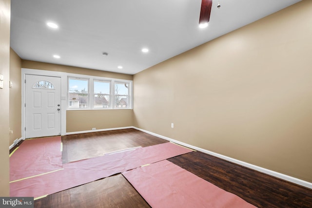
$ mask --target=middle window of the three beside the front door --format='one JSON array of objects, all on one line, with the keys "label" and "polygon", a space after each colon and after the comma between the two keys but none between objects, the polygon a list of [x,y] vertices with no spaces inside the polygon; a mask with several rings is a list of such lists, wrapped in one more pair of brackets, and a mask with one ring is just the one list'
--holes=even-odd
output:
[{"label": "middle window of the three beside the front door", "polygon": [[110,108],[110,82],[94,81],[94,108]]}]

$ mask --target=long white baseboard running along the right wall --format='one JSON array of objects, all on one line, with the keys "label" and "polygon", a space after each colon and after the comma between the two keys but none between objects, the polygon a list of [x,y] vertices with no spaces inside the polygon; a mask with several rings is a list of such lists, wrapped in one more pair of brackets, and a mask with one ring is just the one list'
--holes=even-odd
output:
[{"label": "long white baseboard running along the right wall", "polygon": [[308,181],[304,181],[304,180],[301,180],[301,179],[298,179],[298,178],[295,178],[295,177],[292,177],[292,176],[289,176],[289,175],[285,175],[285,174],[280,173],[280,172],[276,172],[276,171],[265,169],[265,168],[262,168],[262,167],[259,167],[259,166],[256,166],[256,165],[253,165],[253,164],[250,164],[250,163],[246,163],[246,162],[243,162],[243,161],[240,161],[240,160],[236,160],[236,159],[234,159],[232,157],[228,157],[228,156],[225,156],[225,155],[222,155],[222,154],[218,154],[218,153],[215,153],[213,151],[208,151],[208,150],[205,150],[205,149],[201,149],[201,148],[198,148],[198,147],[186,144],[184,142],[180,142],[180,141],[177,141],[175,139],[171,139],[169,137],[159,135],[157,133],[149,132],[149,131],[146,131],[146,130],[143,130],[143,129],[139,129],[137,127],[132,127],[132,128],[134,128],[136,130],[139,130],[141,132],[145,132],[145,133],[151,134],[153,136],[157,136],[157,137],[162,138],[162,139],[166,139],[166,140],[174,142],[176,144],[183,145],[183,146],[191,148],[193,150],[197,150],[197,151],[201,151],[201,152],[213,155],[215,157],[227,160],[227,161],[235,163],[237,165],[241,165],[241,166],[244,166],[244,167],[252,169],[252,170],[257,170],[259,172],[263,172],[265,174],[274,176],[276,178],[280,178],[282,180],[289,181],[289,182],[292,182],[294,184],[297,184],[297,185],[300,185],[300,186],[312,189],[312,183],[310,183]]}]

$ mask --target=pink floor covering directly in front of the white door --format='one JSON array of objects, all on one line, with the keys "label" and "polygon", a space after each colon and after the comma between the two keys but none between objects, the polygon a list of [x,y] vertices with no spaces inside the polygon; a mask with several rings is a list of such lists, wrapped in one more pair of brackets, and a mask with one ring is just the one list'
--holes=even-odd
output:
[{"label": "pink floor covering directly in front of the white door", "polygon": [[10,157],[10,181],[62,168],[61,137],[29,139]]}]

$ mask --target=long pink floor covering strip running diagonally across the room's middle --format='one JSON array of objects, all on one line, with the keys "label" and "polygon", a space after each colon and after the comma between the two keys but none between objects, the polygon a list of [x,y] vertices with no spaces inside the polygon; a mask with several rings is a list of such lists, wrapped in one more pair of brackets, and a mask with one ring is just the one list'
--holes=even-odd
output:
[{"label": "long pink floor covering strip running diagonally across the room's middle", "polygon": [[63,164],[64,170],[10,183],[10,196],[39,197],[191,152],[167,142]]}]

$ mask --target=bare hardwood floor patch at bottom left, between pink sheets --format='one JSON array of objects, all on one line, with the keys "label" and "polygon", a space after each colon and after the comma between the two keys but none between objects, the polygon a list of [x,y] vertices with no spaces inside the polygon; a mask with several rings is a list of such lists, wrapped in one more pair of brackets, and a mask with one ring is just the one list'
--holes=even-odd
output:
[{"label": "bare hardwood floor patch at bottom left, between pink sheets", "polygon": [[36,200],[35,208],[150,208],[150,206],[121,174],[116,174]]}]

